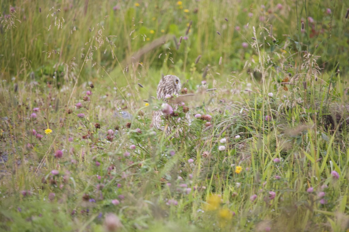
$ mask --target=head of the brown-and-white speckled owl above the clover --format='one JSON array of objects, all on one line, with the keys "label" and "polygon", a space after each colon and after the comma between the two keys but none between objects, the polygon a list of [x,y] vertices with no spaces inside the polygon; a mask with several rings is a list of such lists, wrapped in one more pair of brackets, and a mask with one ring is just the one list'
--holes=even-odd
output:
[{"label": "head of the brown-and-white speckled owl above the clover", "polygon": [[157,99],[165,100],[166,94],[179,94],[181,87],[182,85],[178,77],[175,75],[166,75],[160,80],[157,86]]}]

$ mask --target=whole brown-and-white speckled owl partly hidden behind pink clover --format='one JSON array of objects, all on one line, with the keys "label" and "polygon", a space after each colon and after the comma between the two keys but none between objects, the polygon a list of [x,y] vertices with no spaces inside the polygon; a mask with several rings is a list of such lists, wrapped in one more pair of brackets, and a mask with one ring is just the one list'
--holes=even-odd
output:
[{"label": "whole brown-and-white speckled owl partly hidden behind pink clover", "polygon": [[[163,78],[161,78],[159,85],[157,86],[156,90],[156,97],[159,100],[163,100],[167,102],[167,99],[165,98],[166,95],[177,95],[179,94],[181,89],[181,83],[178,77],[175,75],[166,75]],[[153,111],[153,118],[151,120],[151,127],[155,127],[157,129],[163,129],[162,124],[162,115],[163,113],[158,111]]]}]

